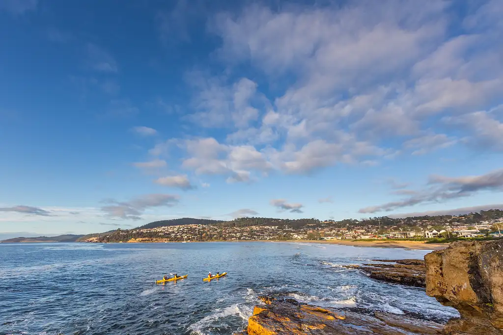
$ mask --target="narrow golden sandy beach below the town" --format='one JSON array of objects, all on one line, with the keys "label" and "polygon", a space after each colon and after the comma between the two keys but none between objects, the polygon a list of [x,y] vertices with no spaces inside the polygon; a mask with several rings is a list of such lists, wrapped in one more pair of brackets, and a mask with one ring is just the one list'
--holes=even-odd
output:
[{"label": "narrow golden sandy beach below the town", "polygon": [[358,240],[329,240],[329,241],[310,241],[295,240],[285,242],[302,243],[320,243],[320,244],[340,244],[354,247],[373,247],[373,248],[402,248],[415,250],[441,250],[449,247],[448,243],[425,243],[424,241],[358,241]]}]

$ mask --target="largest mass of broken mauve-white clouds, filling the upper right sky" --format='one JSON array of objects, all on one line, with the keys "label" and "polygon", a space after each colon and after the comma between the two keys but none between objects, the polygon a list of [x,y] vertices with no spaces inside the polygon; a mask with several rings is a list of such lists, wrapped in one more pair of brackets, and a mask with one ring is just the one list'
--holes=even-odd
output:
[{"label": "largest mass of broken mauve-white clouds, filling the upper right sky", "polygon": [[[495,15],[480,20],[493,2],[464,17],[435,0],[324,4],[254,4],[210,19],[227,71],[185,76],[184,121],[202,136],[150,153],[177,146],[182,168],[233,183],[473,143],[501,150],[501,116],[490,110],[503,94],[503,28]],[[207,135],[217,129],[223,136]]]}]

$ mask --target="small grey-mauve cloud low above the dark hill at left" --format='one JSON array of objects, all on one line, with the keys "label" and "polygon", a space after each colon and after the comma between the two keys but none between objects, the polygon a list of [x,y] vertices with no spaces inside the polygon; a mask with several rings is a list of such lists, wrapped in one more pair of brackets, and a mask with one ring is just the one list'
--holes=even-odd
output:
[{"label": "small grey-mauve cloud low above the dark hill at left", "polygon": [[107,199],[103,201],[107,205],[102,206],[101,210],[107,217],[139,220],[145,210],[153,207],[172,207],[179,199],[180,197],[174,194],[145,194],[122,202]]}]

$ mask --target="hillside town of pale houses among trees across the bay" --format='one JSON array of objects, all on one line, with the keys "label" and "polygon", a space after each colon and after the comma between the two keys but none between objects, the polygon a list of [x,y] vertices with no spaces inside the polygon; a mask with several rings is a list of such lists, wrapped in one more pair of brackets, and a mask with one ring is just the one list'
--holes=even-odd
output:
[{"label": "hillside town of pale houses among trees across the bay", "polygon": [[[472,213],[473,214],[473,213]],[[496,214],[501,214],[499,211]],[[483,215],[482,215],[483,216]],[[487,216],[487,215],[486,215]],[[490,215],[494,216],[494,215]],[[496,215],[497,216],[497,215]],[[502,215],[503,216],[503,215]],[[239,218],[217,224],[182,224],[117,230],[92,237],[87,242],[202,242],[202,241],[287,241],[287,240],[365,240],[365,239],[456,239],[502,237],[503,217],[485,218],[466,224],[464,216],[442,221],[418,218],[411,221],[380,217],[368,220],[288,221],[283,219]],[[468,220],[472,222],[471,220]],[[187,222],[187,221],[184,221]],[[393,224],[394,222],[394,224]],[[151,224],[149,224],[152,226]],[[154,225],[154,226],[156,226]]]}]

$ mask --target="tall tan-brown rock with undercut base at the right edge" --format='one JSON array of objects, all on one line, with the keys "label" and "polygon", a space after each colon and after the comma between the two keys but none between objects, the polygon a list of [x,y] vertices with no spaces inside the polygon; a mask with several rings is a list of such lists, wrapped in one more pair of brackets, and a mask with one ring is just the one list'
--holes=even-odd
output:
[{"label": "tall tan-brown rock with undercut base at the right edge", "polygon": [[503,334],[503,240],[455,242],[425,260],[426,293],[461,315],[444,334]]}]

